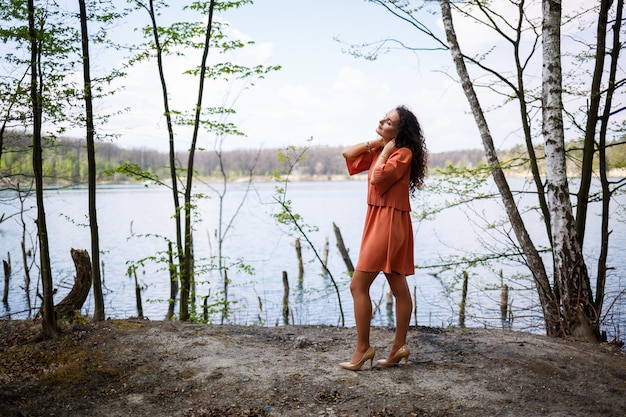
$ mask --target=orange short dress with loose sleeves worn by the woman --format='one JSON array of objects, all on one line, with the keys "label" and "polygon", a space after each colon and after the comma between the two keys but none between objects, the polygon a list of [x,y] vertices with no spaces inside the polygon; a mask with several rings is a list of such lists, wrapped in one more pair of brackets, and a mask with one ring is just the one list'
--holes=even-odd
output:
[{"label": "orange short dress with loose sleeves worn by the woman", "polygon": [[[413,154],[395,149],[386,162],[371,169],[382,148],[348,161],[350,175],[367,173],[367,213],[356,269],[364,272],[415,273],[409,179]],[[372,177],[374,184],[372,184]]]}]

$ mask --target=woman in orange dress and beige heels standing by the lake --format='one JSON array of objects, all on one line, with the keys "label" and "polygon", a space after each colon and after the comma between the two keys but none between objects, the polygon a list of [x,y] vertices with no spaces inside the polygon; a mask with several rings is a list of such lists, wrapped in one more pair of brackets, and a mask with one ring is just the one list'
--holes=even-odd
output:
[{"label": "woman in orange dress and beige heels standing by the lake", "polygon": [[396,299],[396,334],[382,366],[395,366],[409,358],[406,336],[413,303],[406,281],[415,273],[413,227],[409,197],[422,188],[428,153],[422,129],[415,115],[405,106],[389,111],[378,123],[375,140],[359,143],[343,151],[350,175],[369,170],[367,214],[361,250],[350,292],[354,301],[357,345],[350,362],[339,366],[356,371],[374,361],[370,346],[372,301],[370,286],[382,271]]}]

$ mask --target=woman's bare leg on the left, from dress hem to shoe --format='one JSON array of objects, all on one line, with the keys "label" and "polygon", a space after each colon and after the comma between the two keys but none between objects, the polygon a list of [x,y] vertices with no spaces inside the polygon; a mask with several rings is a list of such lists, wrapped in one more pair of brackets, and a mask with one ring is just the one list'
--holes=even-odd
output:
[{"label": "woman's bare leg on the left, from dress hem to shoe", "polygon": [[370,346],[370,322],[372,320],[372,300],[370,287],[378,272],[354,271],[350,281],[350,292],[354,302],[354,320],[356,322],[356,350],[351,363],[357,363]]}]

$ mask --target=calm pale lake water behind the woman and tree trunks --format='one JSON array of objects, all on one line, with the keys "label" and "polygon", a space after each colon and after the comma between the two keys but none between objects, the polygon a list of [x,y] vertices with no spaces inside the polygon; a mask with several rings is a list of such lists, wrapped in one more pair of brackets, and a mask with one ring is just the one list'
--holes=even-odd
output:
[{"label": "calm pale lake water behind the woman and tree trunks", "polygon": [[[282,272],[286,271],[290,282],[290,308],[296,324],[340,324],[337,296],[328,277],[321,274],[321,267],[314,257],[313,250],[303,242],[305,275],[303,285],[297,283],[298,263],[295,250],[296,236],[284,226],[279,226],[272,213],[279,210],[274,200],[275,183],[257,183],[249,193],[237,217],[232,221],[229,234],[223,242],[223,255],[227,264],[238,260],[253,269],[253,273],[232,267],[229,269],[231,286],[229,300],[233,305],[229,322],[236,324],[282,324],[283,282]],[[522,188],[521,180],[516,183]],[[492,186],[487,186],[487,189]],[[232,214],[239,207],[244,196],[245,185],[230,184],[224,199],[224,224],[230,222]],[[218,243],[215,238],[219,224],[219,198],[206,186],[198,189],[209,198],[199,202],[200,221],[196,225],[195,254],[198,264],[209,265],[216,262]],[[0,212],[8,216],[15,212],[16,203],[2,195]],[[364,181],[294,182],[289,184],[288,198],[293,210],[302,216],[303,222],[315,226],[311,232],[318,253],[323,253],[326,239],[330,243],[328,264],[331,273],[341,288],[341,300],[346,325],[354,324],[352,299],[348,290],[349,277],[343,259],[336,249],[333,223],[341,230],[344,243],[350,251],[352,262],[356,264],[359,242],[365,216],[366,183]],[[453,196],[431,195],[422,192],[414,201],[413,208],[420,211],[426,206],[451,201]],[[528,204],[531,201],[529,200]],[[621,201],[624,205],[626,201]],[[103,262],[105,309],[108,317],[124,318],[136,316],[135,284],[127,271],[131,264],[143,259],[164,256],[167,250],[165,238],[173,240],[171,220],[171,195],[166,189],[141,186],[109,186],[98,191],[98,224],[100,248]],[[520,201],[521,205],[526,204]],[[34,199],[27,200],[25,207],[33,207],[25,216],[28,231],[27,247],[33,247],[35,239],[33,218]],[[87,191],[70,189],[48,191],[46,193],[46,214],[50,236],[53,277],[58,292],[55,302],[60,301],[69,291],[75,274],[70,257],[71,248],[88,249],[89,228],[87,225]],[[530,232],[537,243],[542,242],[542,225],[534,214],[527,214]],[[619,216],[616,214],[615,218]],[[498,200],[475,203],[470,210],[459,208],[447,210],[428,220],[417,221],[415,232],[415,262],[420,266],[433,266],[418,269],[409,277],[409,285],[414,292],[417,306],[412,324],[448,326],[458,323],[462,268],[444,268],[441,265],[451,255],[486,253],[485,247],[506,243],[506,233],[497,228],[485,227],[487,223],[497,223],[502,218]],[[588,227],[588,247],[585,253],[597,257],[597,238],[593,235],[599,222],[590,216]],[[617,299],[616,306],[606,317],[610,334],[624,330],[626,304],[624,296],[617,297],[619,290],[626,287],[624,271],[626,260],[620,254],[626,249],[626,227],[623,222],[613,221],[611,235],[611,257],[608,296],[605,305]],[[24,270],[20,254],[21,223],[13,217],[0,223],[0,257],[7,259],[10,254],[12,277],[9,303],[0,306],[0,317],[28,317],[27,298],[24,292]],[[545,240],[543,240],[545,243]],[[32,260],[32,258],[31,258]],[[550,262],[547,262],[550,264]],[[595,264],[589,262],[592,280],[595,280]],[[167,312],[169,297],[169,277],[162,263],[151,260],[138,266],[138,278],[142,286],[144,316],[159,320]],[[476,267],[467,269],[469,274],[469,296],[466,324],[469,326],[500,326],[500,273],[507,279],[510,289],[510,303],[513,309],[513,327],[541,331],[541,315],[536,308],[533,284],[525,268],[514,263],[497,261],[492,268]],[[36,266],[31,272],[37,276]],[[217,271],[208,271],[200,278],[197,286],[198,297],[209,295],[215,301],[222,289]],[[31,299],[35,300],[36,283],[31,285]],[[375,325],[393,323],[392,312],[385,308],[386,286],[381,275],[372,288],[372,299],[380,306],[374,318]],[[38,305],[38,303],[37,303]],[[177,307],[178,310],[178,307]],[[93,312],[90,297],[84,313]],[[219,315],[213,316],[219,322]]]}]

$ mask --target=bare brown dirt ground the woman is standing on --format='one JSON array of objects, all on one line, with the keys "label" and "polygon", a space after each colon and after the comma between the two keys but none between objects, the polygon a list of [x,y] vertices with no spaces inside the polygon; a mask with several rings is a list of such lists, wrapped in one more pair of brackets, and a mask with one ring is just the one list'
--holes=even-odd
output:
[{"label": "bare brown dirt ground the woman is standing on", "polygon": [[[0,415],[626,416],[611,344],[485,329],[411,329],[407,367],[352,372],[355,330],[108,320],[34,341],[0,322]],[[384,358],[393,329],[372,329]]]}]

